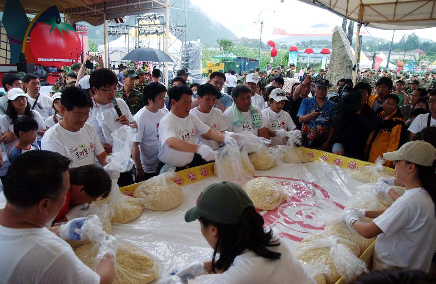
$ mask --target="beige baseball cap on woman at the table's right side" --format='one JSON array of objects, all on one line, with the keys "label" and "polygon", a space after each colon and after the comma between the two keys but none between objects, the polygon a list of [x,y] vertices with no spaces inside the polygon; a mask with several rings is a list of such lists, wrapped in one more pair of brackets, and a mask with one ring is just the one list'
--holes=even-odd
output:
[{"label": "beige baseball cap on woman at the table's right side", "polygon": [[387,161],[406,160],[409,163],[431,167],[436,160],[436,149],[425,141],[410,141],[398,150],[383,154]]}]

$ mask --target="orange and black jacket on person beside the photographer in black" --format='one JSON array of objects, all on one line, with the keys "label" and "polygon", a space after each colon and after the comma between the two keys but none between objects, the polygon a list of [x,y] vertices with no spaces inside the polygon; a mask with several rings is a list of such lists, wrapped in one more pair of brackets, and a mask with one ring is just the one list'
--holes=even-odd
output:
[{"label": "orange and black jacket on person beside the photographer in black", "polygon": [[[381,124],[371,132],[366,141],[365,158],[368,162],[375,163],[377,157],[383,157],[383,153],[398,150],[406,142],[406,126],[401,113],[396,111],[383,119],[384,111],[377,111],[377,118]],[[387,167],[393,167],[392,161],[384,163]]]}]

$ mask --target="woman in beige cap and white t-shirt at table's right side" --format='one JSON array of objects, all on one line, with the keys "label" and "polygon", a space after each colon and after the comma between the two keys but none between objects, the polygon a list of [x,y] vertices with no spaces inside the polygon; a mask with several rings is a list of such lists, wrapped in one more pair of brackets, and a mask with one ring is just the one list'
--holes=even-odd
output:
[{"label": "woman in beige cap and white t-shirt at table's right side", "polygon": [[[411,141],[383,158],[394,161],[396,179],[380,178],[376,193],[394,202],[384,211],[345,209],[344,220],[366,238],[377,236],[375,270],[399,267],[428,272],[436,249],[436,149],[424,141]],[[404,194],[399,196],[393,185],[405,186]],[[361,217],[374,219],[368,223]]]}]

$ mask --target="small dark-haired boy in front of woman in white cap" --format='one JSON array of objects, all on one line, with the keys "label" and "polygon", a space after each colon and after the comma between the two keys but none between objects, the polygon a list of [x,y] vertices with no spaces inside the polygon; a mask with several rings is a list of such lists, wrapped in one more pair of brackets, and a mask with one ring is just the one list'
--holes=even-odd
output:
[{"label": "small dark-haired boy in front of woman in white cap", "polygon": [[14,123],[14,134],[18,137],[18,142],[9,155],[11,164],[27,151],[40,150],[38,144],[34,144],[37,133],[38,122],[35,119],[29,116],[17,119]]}]

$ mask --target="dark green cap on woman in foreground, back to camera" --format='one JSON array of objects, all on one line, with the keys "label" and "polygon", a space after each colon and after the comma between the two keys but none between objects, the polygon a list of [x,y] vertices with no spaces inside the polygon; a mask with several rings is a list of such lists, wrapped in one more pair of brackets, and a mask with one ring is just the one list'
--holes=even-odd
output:
[{"label": "dark green cap on woman in foreground, back to camera", "polygon": [[204,217],[220,224],[237,224],[245,208],[254,206],[247,193],[232,182],[217,182],[204,189],[197,199],[197,206],[185,214],[185,221]]}]

